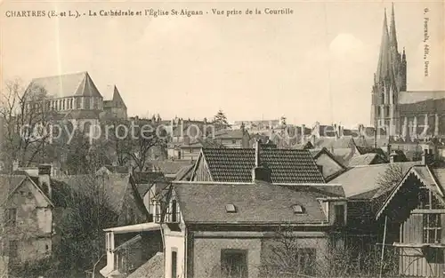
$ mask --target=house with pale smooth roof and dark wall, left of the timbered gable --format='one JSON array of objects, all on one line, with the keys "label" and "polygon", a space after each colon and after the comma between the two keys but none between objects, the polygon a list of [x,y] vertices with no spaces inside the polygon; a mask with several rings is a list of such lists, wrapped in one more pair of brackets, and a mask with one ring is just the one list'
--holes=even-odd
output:
[{"label": "house with pale smooth roof and dark wall, left of the timbered gable", "polygon": [[[375,216],[379,206],[393,187],[420,163],[382,163],[348,168],[330,184],[342,185],[347,201],[346,245],[352,250],[352,266],[367,270],[369,256],[375,254],[378,237],[382,235]],[[374,252],[374,253],[373,253]]]}]

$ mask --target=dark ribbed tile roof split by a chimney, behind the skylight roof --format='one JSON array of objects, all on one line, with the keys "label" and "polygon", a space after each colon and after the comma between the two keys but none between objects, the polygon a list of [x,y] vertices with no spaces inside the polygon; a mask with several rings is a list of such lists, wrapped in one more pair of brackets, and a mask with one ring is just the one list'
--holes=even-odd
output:
[{"label": "dark ribbed tile roof split by a chimney, behind the skylight roof", "polygon": [[[203,148],[202,155],[214,181],[252,181],[255,149]],[[265,148],[260,151],[260,160],[271,169],[273,183],[325,182],[308,150]]]}]

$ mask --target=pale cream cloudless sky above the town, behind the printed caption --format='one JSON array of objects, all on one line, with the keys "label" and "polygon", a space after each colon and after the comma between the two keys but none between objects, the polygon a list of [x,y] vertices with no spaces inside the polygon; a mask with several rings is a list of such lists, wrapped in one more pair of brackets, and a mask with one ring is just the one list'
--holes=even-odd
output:
[{"label": "pale cream cloudless sky above the town, behind the printed caption", "polygon": [[[287,15],[247,9],[291,8]],[[370,122],[386,1],[4,2],[0,5],[1,81],[87,71],[104,99],[116,85],[129,115],[229,121],[287,117],[288,123]],[[202,10],[181,17],[17,18],[7,11],[88,13],[110,9]],[[429,12],[424,14],[425,8]],[[212,15],[212,9],[242,11]],[[394,2],[408,90],[444,90],[444,2]],[[209,12],[206,14],[206,12]],[[424,75],[425,16],[429,75]]]}]

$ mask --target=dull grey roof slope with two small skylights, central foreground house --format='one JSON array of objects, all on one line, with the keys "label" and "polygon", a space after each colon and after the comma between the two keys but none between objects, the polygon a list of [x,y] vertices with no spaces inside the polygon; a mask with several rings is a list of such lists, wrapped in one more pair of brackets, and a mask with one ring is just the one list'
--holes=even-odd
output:
[{"label": "dull grey roof slope with two small skylights, central foreground house", "polygon": [[[320,193],[292,190],[264,182],[258,183],[174,183],[174,191],[186,223],[224,224],[321,224],[326,222],[319,201]],[[227,213],[233,204],[236,213]],[[295,214],[292,206],[303,206]]]}]

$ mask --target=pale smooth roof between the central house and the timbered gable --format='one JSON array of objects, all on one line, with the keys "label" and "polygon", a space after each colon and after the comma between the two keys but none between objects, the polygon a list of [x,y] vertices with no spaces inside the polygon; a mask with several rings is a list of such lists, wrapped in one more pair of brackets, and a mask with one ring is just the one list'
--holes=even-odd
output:
[{"label": "pale smooth roof between the central house and the timbered gable", "polygon": [[329,184],[342,185],[347,198],[364,194],[380,187],[377,184],[378,180],[392,164],[400,165],[401,170],[406,173],[412,166],[418,165],[419,163],[384,163],[355,166],[348,171],[344,171],[344,173],[335,179],[330,180]]}]

